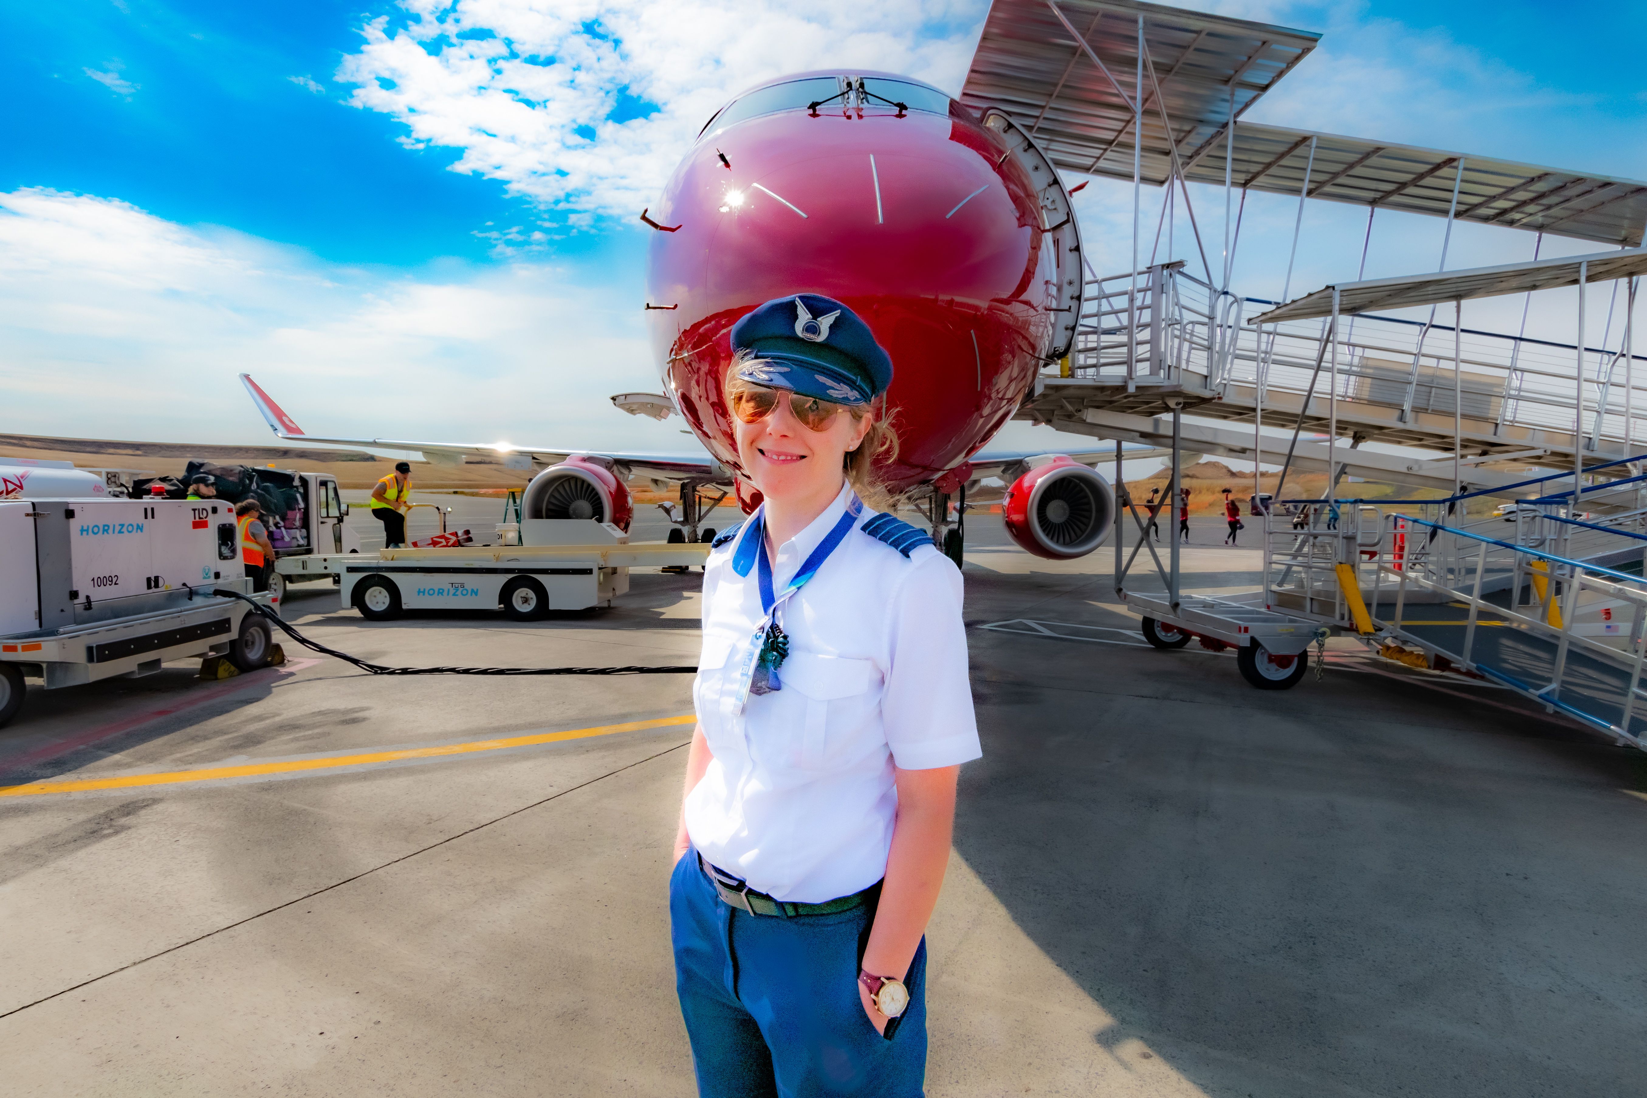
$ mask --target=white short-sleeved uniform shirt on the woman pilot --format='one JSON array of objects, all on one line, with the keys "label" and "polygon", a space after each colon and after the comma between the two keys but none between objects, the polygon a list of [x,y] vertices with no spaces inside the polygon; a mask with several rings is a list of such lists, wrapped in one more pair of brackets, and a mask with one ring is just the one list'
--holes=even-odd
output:
[{"label": "white short-sleeved uniform shirt on the woman pilot", "polygon": [[[842,489],[777,548],[774,593],[851,500]],[[879,881],[898,812],[893,767],[927,770],[982,754],[960,570],[931,542],[904,556],[863,533],[873,514],[865,507],[784,603],[782,688],[751,695],[743,713],[735,701],[741,657],[763,611],[759,566],[740,576],[733,555],[754,523],[710,553],[703,570],[693,701],[715,759],[687,797],[687,831],[705,859],[781,900],[820,904]]]}]

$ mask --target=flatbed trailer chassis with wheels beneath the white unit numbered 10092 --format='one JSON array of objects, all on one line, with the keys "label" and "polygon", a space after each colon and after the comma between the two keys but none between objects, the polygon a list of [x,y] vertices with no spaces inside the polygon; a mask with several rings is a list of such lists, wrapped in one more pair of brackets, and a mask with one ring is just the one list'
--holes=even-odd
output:
[{"label": "flatbed trailer chassis with wheels beneath the white unit numbered 10092", "polygon": [[[245,578],[221,579],[209,588],[252,594],[252,581]],[[239,599],[208,594],[209,588],[168,609],[0,637],[0,728],[23,708],[30,678],[59,690],[117,675],[153,675],[170,660],[217,655],[242,672],[268,663],[273,652],[268,622]],[[267,594],[252,598],[268,604]]]}]

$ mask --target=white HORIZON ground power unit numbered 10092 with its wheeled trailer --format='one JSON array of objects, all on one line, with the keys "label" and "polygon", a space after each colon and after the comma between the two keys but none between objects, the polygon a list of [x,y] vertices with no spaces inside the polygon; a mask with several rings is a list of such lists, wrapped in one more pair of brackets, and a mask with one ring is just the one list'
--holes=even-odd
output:
[{"label": "white HORIZON ground power unit numbered 10092 with its wheeled trailer", "polygon": [[30,678],[56,690],[152,675],[166,660],[265,665],[268,622],[217,588],[252,594],[227,504],[89,489],[82,499],[0,499],[0,726]]}]

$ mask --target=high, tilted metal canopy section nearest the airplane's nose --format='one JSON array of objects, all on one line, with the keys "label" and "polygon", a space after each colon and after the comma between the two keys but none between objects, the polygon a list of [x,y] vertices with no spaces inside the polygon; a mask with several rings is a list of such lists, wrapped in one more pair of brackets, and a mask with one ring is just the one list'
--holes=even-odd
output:
[{"label": "high, tilted metal canopy section nearest the airplane's nose", "polygon": [[1153,184],[1171,176],[1173,148],[1186,165],[1207,151],[1229,122],[1232,91],[1239,119],[1321,38],[1136,0],[1057,0],[1056,8],[1047,0],[995,0],[960,100],[1011,114],[1059,168],[1131,179],[1133,109],[1127,100],[1136,100],[1138,16],[1161,87],[1156,104],[1146,69],[1143,179]]}]

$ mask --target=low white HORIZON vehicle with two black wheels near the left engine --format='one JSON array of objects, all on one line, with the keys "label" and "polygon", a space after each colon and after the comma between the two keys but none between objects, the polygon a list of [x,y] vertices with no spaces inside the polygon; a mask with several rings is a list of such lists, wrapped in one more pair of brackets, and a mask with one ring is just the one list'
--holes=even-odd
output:
[{"label": "low white HORIZON vehicle with two black wheels near the left engine", "polygon": [[629,589],[631,568],[697,566],[708,553],[702,542],[382,550],[341,563],[341,594],[367,621],[408,609],[499,606],[516,621],[534,621],[552,609],[611,606]]}]

